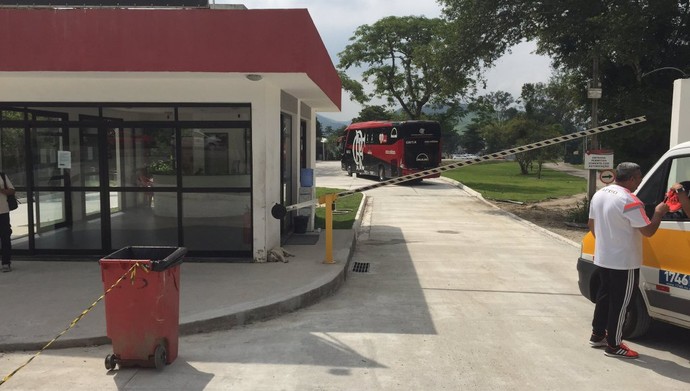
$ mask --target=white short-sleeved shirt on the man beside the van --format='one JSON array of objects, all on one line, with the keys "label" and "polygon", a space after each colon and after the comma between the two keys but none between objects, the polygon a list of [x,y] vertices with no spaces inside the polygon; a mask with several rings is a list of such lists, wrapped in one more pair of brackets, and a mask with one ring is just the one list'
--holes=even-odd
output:
[{"label": "white short-sleeved shirt on the man beside the van", "polygon": [[594,193],[589,206],[594,220],[594,264],[629,270],[642,266],[642,234],[650,221],[644,204],[630,190],[613,184]]}]

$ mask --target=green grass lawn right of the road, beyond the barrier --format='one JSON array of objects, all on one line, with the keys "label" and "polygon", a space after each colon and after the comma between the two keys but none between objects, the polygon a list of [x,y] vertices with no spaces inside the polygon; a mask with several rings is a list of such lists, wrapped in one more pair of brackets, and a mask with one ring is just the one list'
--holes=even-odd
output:
[{"label": "green grass lawn right of the road, beyond the barrier", "polygon": [[542,168],[541,178],[537,179],[536,172],[520,174],[517,162],[479,163],[445,172],[443,176],[493,200],[536,202],[587,192],[584,178]]}]

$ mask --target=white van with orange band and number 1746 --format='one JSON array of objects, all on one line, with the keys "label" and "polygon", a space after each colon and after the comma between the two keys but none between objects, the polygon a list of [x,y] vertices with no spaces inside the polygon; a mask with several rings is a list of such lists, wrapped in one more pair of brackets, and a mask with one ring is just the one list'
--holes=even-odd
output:
[{"label": "white van with orange band and number 1746", "polygon": [[[684,181],[690,181],[690,142],[666,152],[635,194],[651,216],[671,185]],[[592,302],[599,285],[594,244],[590,232],[582,241],[577,262],[580,292]],[[684,215],[667,214],[656,234],[643,238],[640,285],[628,308],[623,337],[643,335],[652,319],[690,328],[690,219]]]}]

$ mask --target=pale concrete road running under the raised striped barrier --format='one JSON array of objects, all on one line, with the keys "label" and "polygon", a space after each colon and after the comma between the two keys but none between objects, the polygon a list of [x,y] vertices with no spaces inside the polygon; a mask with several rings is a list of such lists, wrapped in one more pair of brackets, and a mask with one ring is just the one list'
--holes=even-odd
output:
[{"label": "pale concrete road running under the raised striped barrier", "polygon": [[[327,165],[332,165],[329,163]],[[335,177],[317,185],[358,187]],[[690,383],[688,333],[655,326],[641,359],[587,344],[579,249],[441,180],[367,193],[351,273],[272,321],[183,337],[162,372],[106,372],[109,346],[48,351],[5,390],[653,390]],[[2,367],[26,354],[2,356]]]}]

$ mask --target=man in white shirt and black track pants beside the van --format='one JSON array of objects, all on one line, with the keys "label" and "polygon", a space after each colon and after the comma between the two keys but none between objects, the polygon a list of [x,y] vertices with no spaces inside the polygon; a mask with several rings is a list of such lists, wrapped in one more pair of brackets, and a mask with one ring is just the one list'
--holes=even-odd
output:
[{"label": "man in white shirt and black track pants beside the van", "polygon": [[640,166],[621,163],[616,182],[597,191],[589,206],[589,229],[596,237],[594,264],[601,284],[592,320],[592,347],[610,357],[638,358],[622,342],[625,313],[639,284],[642,235],[654,235],[668,205],[660,203],[650,220],[644,204],[632,193],[642,182]]}]

